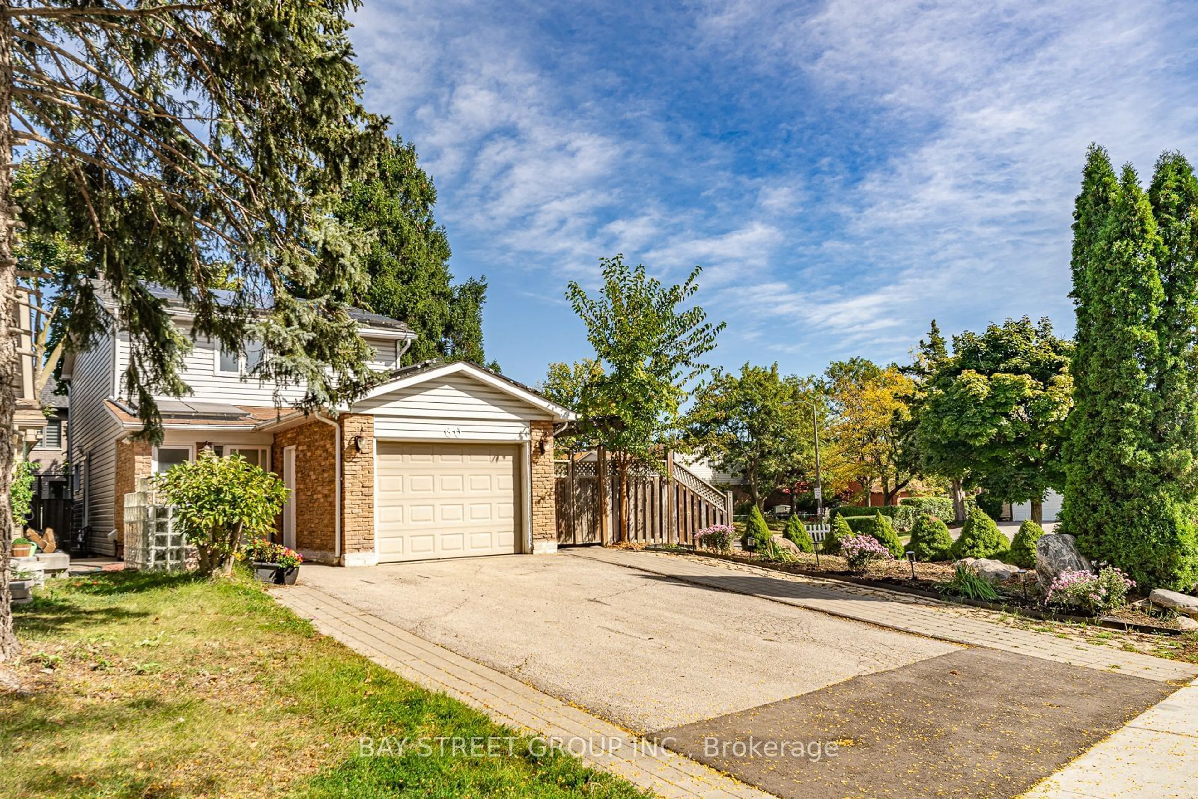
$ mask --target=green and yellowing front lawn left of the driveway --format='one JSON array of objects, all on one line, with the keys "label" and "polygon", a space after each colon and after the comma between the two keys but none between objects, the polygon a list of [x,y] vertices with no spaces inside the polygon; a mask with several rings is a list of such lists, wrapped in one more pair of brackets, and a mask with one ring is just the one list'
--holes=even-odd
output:
[{"label": "green and yellowing front lawn left of the driveway", "polygon": [[524,740],[496,757],[363,756],[363,737],[398,749],[513,733],[319,635],[247,580],[60,581],[17,625],[18,670],[37,688],[0,696],[0,797],[643,795]]}]

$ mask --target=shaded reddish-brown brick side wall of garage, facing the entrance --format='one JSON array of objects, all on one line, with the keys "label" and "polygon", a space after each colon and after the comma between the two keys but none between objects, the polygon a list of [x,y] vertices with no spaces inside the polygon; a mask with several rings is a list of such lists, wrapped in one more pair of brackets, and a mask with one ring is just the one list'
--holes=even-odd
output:
[{"label": "shaded reddish-brown brick side wall of garage, facing the entrance", "polygon": [[[276,472],[283,470],[284,447],[296,448],[296,549],[304,557],[317,562],[333,561],[334,549],[334,483],[335,431],[323,422],[313,419],[300,426],[274,435],[271,462]],[[282,532],[283,520],[279,519]]]}]

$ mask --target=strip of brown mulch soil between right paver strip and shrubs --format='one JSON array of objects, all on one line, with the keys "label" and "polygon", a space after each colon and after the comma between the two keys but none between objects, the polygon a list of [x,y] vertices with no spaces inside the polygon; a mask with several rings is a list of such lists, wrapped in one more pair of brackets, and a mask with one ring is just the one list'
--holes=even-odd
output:
[{"label": "strip of brown mulch soil between right paver strip and shrubs", "polygon": [[1018,583],[1008,583],[999,587],[999,600],[984,601],[968,599],[966,597],[944,594],[938,591],[937,586],[950,581],[955,574],[955,568],[951,563],[916,562],[914,564],[915,579],[913,580],[910,576],[913,564],[908,561],[900,559],[876,561],[864,571],[852,571],[848,569],[848,564],[845,558],[835,555],[821,555],[818,561],[815,555],[803,555],[800,556],[801,559],[798,563],[772,563],[762,561],[760,557],[748,556],[740,551],[733,551],[731,555],[725,555],[708,550],[690,550],[689,547],[651,549],[664,552],[672,551],[685,555],[697,555],[721,561],[733,561],[736,563],[744,563],[748,565],[773,569],[776,571],[786,571],[801,576],[840,580],[871,588],[884,588],[888,591],[914,594],[926,599],[956,603],[961,605],[969,605],[972,607],[981,607],[1009,613],[1018,613],[1042,621],[1093,624],[1118,630],[1132,630],[1156,635],[1178,635],[1181,632],[1170,618],[1149,616],[1148,613],[1130,606],[1123,607],[1103,617],[1072,616],[1045,607],[1043,603],[1035,593],[1034,573],[1029,575],[1031,581],[1029,581],[1027,586],[1027,599],[1024,599],[1023,595],[1023,586],[1019,586]]}]

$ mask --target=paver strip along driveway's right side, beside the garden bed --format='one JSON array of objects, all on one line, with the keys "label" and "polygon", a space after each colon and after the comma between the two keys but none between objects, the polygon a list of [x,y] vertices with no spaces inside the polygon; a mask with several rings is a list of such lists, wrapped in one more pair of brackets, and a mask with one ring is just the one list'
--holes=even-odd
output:
[{"label": "paver strip along driveway's right side, beside the garden bed", "polygon": [[990,647],[1073,666],[1118,670],[1124,674],[1160,682],[1188,683],[1198,677],[1198,667],[1190,664],[1124,652],[1112,646],[1081,643],[1049,632],[1019,630],[999,624],[1002,615],[993,611],[948,605],[893,591],[792,575],[702,556],[599,547],[568,550],[568,555],[595,558],[698,586],[772,599],[942,641]]}]

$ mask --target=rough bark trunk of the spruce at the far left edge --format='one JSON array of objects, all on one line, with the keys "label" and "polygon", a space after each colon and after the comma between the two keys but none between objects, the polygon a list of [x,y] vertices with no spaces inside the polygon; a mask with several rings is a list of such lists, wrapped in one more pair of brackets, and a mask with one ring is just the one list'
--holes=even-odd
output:
[{"label": "rough bark trunk of the spruce at the far left edge", "polygon": [[[5,4],[7,8],[8,4]],[[17,380],[20,356],[13,305],[17,293],[17,259],[12,254],[16,208],[12,205],[12,19],[0,17],[0,662],[12,660],[20,652],[12,625],[12,593],[8,588],[8,558],[12,550],[13,521],[8,498],[12,488],[13,413],[17,408]],[[16,329],[13,329],[16,327]]]}]

